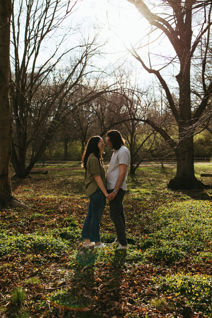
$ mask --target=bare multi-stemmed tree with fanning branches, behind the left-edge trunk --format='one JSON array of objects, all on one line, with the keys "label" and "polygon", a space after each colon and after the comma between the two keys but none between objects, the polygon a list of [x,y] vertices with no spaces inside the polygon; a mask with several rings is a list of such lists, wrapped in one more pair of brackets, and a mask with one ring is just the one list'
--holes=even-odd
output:
[{"label": "bare multi-stemmed tree with fanning branches, behind the left-edge trunk", "polygon": [[[94,98],[96,83],[79,97],[79,87],[94,71],[89,61],[102,44],[97,35],[81,40],[61,53],[66,33],[60,36],[64,19],[71,18],[77,1],[23,0],[12,1],[13,41],[10,72],[10,95],[14,134],[11,162],[18,177],[25,177],[66,120],[70,111]],[[65,12],[65,13],[64,13]],[[22,20],[25,20],[23,31]],[[72,30],[68,30],[71,32]],[[58,38],[49,55],[41,55],[49,38]],[[50,42],[50,45],[53,45]],[[62,66],[60,61],[70,54]],[[42,61],[40,60],[42,58]],[[31,150],[25,167],[26,152]]]}]

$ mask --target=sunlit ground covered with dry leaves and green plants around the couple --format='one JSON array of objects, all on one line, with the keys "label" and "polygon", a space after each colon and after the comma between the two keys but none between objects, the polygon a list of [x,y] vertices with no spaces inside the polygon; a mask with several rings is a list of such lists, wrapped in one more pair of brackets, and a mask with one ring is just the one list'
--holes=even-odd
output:
[{"label": "sunlit ground covered with dry leaves and green plants around the couple", "polygon": [[[175,166],[141,167],[124,198],[129,249],[85,250],[84,171],[45,169],[12,180],[29,208],[0,212],[1,318],[212,316],[212,190],[168,190]],[[212,164],[195,165],[210,184],[202,172]],[[113,242],[108,202],[100,231]]]}]

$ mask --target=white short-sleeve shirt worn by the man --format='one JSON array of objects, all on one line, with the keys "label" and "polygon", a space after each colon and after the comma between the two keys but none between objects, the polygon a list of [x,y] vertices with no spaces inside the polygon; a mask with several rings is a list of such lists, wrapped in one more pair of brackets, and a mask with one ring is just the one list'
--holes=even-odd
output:
[{"label": "white short-sleeve shirt worn by the man", "polygon": [[113,149],[113,155],[110,160],[110,164],[106,173],[107,190],[115,188],[118,176],[120,174],[119,165],[124,163],[127,165],[127,171],[124,177],[124,181],[121,185],[122,190],[127,189],[127,174],[130,166],[130,152],[125,146],[121,146],[118,150]]}]

